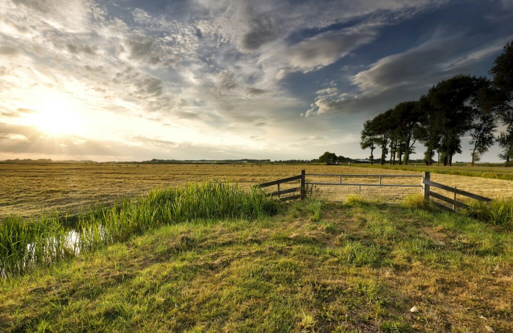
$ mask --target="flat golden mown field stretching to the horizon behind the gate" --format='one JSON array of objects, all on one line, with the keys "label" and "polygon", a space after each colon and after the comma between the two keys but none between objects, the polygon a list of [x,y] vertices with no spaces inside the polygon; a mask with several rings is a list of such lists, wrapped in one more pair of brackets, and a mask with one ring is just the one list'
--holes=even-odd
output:
[{"label": "flat golden mown field stretching to the horizon behind the gate", "polygon": [[[175,187],[211,179],[227,179],[249,188],[299,174],[301,169],[307,173],[421,174],[387,168],[326,165],[0,164],[0,217],[30,217],[55,210],[74,214],[89,205],[111,204],[124,197],[146,193],[157,186]],[[489,198],[510,198],[513,193],[513,181],[501,179],[432,173],[431,180]],[[356,181],[369,180],[362,178]],[[394,179],[394,183],[412,181]],[[420,183],[420,180],[413,182]]]}]

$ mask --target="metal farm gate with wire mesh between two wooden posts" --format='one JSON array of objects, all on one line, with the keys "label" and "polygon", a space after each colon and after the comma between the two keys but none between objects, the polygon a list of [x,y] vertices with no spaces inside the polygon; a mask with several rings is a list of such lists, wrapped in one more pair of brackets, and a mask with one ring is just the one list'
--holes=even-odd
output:
[{"label": "metal farm gate with wire mesh between two wooden posts", "polygon": [[422,193],[422,175],[306,174],[307,195],[329,201],[345,201],[349,195],[398,203],[409,194]]}]

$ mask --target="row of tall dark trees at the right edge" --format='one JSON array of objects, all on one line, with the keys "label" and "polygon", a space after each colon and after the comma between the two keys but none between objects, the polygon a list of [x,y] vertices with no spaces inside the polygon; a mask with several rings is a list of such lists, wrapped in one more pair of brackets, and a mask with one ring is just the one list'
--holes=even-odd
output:
[{"label": "row of tall dark trees at the right edge", "polygon": [[[408,164],[416,144],[425,146],[424,161],[452,165],[462,153],[461,141],[468,135],[472,165],[497,142],[499,157],[513,162],[513,42],[504,46],[490,70],[492,79],[456,75],[439,82],[418,101],[402,102],[363,124],[360,146],[381,149],[381,164],[390,153],[390,164]],[[504,129],[496,137],[498,124]]]}]

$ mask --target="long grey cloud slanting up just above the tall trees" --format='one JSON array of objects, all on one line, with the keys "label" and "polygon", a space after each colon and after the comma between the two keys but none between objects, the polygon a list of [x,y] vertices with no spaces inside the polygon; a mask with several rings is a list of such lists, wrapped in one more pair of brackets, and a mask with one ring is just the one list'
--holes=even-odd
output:
[{"label": "long grey cloud slanting up just above the tall trees", "polygon": [[[496,54],[508,39],[481,43],[473,36],[439,32],[404,52],[374,62],[350,77],[357,91],[339,94],[332,88],[317,97],[302,115],[350,115],[382,112],[397,103],[415,100],[437,82],[460,73],[472,73],[483,58]],[[462,54],[462,49],[465,52]]]}]

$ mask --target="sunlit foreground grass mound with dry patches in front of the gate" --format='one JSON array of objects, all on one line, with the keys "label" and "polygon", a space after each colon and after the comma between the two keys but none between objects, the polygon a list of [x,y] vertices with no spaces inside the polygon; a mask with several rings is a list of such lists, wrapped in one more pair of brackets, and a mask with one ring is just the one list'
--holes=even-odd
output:
[{"label": "sunlit foreground grass mound with dry patches in front of the gate", "polygon": [[249,217],[155,226],[0,280],[0,330],[513,331],[500,226],[361,198]]}]

